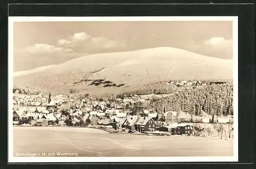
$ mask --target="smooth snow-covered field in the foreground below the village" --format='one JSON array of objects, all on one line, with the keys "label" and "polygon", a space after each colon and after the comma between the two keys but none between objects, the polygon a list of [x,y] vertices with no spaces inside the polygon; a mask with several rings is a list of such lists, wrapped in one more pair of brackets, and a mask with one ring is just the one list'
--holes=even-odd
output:
[{"label": "smooth snow-covered field in the foreground below the village", "polygon": [[[14,127],[16,153],[77,156],[232,156],[233,139],[110,134],[90,128]],[[48,154],[50,153],[50,154]]]}]

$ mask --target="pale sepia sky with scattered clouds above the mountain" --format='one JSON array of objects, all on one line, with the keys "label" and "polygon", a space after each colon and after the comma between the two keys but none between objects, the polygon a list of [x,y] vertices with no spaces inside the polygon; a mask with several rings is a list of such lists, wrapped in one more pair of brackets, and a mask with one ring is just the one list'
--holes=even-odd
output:
[{"label": "pale sepia sky with scattered clouds above the mountain", "polygon": [[14,22],[13,29],[14,71],[152,47],[232,59],[232,21]]}]

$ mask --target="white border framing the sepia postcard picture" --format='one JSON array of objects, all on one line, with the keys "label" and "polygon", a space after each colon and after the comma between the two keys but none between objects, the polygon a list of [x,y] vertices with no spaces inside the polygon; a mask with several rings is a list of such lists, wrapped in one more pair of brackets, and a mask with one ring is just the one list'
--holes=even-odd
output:
[{"label": "white border framing the sepia postcard picture", "polygon": [[[233,156],[231,157],[14,157],[12,126],[13,23],[42,21],[232,21]],[[8,162],[236,162],[238,161],[238,16],[8,17]]]}]

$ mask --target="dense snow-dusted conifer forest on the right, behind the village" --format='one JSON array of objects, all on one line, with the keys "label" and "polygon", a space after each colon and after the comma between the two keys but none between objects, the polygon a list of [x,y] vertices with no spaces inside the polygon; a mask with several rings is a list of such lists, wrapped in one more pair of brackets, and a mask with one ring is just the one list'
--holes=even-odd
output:
[{"label": "dense snow-dusted conifer forest on the right, behind the village", "polygon": [[205,85],[182,90],[173,95],[152,100],[148,108],[163,115],[166,111],[187,112],[191,115],[233,115],[233,85]]}]

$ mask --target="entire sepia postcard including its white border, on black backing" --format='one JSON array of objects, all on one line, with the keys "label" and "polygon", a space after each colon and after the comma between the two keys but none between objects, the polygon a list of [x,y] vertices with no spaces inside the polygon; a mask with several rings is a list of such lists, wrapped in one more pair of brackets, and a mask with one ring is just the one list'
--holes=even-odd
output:
[{"label": "entire sepia postcard including its white border, on black backing", "polygon": [[9,162],[238,161],[238,17],[9,17]]}]

